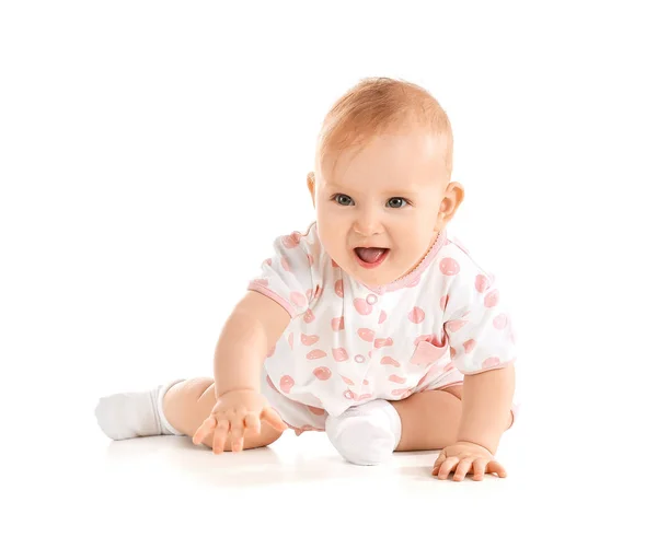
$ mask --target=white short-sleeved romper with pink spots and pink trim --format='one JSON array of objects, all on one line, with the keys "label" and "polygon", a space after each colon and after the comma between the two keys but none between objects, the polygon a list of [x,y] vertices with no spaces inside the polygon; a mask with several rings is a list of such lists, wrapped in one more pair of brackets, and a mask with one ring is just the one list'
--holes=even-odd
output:
[{"label": "white short-sleeved romper with pink spots and pink trim", "polygon": [[343,271],[311,223],[274,242],[249,290],[280,304],[290,324],[264,362],[262,388],[297,434],[373,399],[460,384],[516,359],[494,276],[445,229],[408,274],[367,287]]}]

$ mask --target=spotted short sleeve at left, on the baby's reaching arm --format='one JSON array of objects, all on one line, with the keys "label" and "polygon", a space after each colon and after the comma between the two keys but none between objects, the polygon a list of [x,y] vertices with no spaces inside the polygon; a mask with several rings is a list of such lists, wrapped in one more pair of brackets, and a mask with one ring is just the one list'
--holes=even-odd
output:
[{"label": "spotted short sleeve at left, on the baby's reaching arm", "polygon": [[293,232],[274,241],[274,254],[263,261],[247,290],[260,292],[283,306],[291,318],[306,313],[315,295],[313,276],[316,242],[309,234]]}]

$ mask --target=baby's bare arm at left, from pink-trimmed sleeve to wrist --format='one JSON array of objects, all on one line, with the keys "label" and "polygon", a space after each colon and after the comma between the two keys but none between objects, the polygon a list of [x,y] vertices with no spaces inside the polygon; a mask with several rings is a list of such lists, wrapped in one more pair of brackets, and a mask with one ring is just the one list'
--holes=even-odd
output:
[{"label": "baby's bare arm at left, from pink-trimmed sleeve to wrist", "polygon": [[252,389],[260,393],[261,369],[290,315],[274,300],[254,291],[238,303],[215,349],[215,396]]}]

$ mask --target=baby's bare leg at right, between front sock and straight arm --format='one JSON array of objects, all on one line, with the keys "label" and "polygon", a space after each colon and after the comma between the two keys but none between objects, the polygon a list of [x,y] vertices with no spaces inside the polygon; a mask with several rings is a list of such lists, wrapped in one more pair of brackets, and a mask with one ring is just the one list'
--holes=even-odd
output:
[{"label": "baby's bare leg at right, between front sock and straight arm", "polygon": [[[403,400],[392,401],[402,420],[402,437],[397,452],[440,449],[457,442],[461,421],[462,385],[415,393]],[[427,421],[435,418],[435,421]],[[508,428],[514,416],[509,411]]]}]

